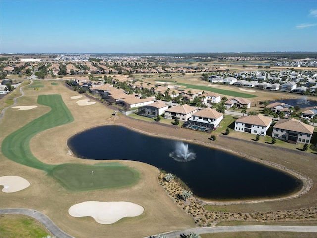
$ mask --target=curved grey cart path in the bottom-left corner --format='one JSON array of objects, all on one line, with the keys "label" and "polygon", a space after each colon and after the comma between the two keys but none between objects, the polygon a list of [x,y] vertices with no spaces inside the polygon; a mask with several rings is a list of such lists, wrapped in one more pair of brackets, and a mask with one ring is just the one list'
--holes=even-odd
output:
[{"label": "curved grey cart path in the bottom-left corner", "polygon": [[48,218],[46,215],[36,210],[26,209],[26,208],[7,208],[7,209],[0,209],[0,215],[1,214],[27,215],[41,222],[46,227],[46,229],[48,229],[56,238],[75,238],[67,234],[66,232],[60,230],[59,227],[57,227],[56,224],[53,223],[53,221],[50,218]]}]

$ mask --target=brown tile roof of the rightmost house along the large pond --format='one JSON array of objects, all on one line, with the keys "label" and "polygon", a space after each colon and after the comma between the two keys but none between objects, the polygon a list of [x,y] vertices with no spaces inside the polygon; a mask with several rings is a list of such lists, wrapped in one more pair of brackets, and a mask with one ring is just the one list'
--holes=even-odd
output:
[{"label": "brown tile roof of the rightmost house along the large pond", "polygon": [[283,130],[290,130],[296,131],[306,134],[313,134],[314,126],[307,125],[297,119],[280,119],[277,123],[273,126],[276,129],[283,129]]}]

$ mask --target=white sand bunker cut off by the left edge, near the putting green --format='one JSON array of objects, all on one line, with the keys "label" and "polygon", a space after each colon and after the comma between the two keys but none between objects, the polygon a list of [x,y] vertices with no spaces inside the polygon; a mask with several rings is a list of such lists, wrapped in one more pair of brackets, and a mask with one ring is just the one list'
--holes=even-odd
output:
[{"label": "white sand bunker cut off by the left edge, near the putting green", "polygon": [[2,192],[18,192],[30,186],[30,183],[20,176],[7,175],[0,177],[0,185],[4,186]]}]

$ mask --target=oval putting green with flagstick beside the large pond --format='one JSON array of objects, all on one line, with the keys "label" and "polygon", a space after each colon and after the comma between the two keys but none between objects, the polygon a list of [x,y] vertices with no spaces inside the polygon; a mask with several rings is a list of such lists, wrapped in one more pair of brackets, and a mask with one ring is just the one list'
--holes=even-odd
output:
[{"label": "oval putting green with flagstick beside the large pond", "polygon": [[120,164],[90,166],[63,164],[55,167],[52,175],[72,191],[86,191],[102,188],[118,188],[136,183],[139,173]]}]

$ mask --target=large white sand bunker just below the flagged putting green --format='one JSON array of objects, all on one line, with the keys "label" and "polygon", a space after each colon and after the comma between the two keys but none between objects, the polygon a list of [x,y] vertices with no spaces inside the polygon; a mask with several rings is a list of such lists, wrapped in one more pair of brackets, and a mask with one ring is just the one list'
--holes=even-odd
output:
[{"label": "large white sand bunker just below the flagged putting green", "polygon": [[93,217],[101,224],[112,224],[124,217],[136,217],[144,208],[132,202],[82,202],[68,210],[73,217]]}]

